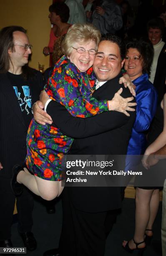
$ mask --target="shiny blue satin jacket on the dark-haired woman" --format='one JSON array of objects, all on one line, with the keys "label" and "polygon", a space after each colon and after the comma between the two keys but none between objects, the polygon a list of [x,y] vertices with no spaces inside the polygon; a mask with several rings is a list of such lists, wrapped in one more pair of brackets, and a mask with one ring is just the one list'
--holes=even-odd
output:
[{"label": "shiny blue satin jacket on the dark-haired woman", "polygon": [[132,81],[136,86],[136,120],[133,125],[131,138],[128,144],[128,155],[143,154],[146,147],[146,134],[151,121],[156,113],[157,92],[148,80],[148,74]]}]

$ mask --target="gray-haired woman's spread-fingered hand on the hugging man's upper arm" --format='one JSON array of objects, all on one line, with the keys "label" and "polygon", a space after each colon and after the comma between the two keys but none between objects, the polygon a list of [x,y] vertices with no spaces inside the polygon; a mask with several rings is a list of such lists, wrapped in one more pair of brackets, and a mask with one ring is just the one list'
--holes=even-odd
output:
[{"label": "gray-haired woman's spread-fingered hand on the hugging man's upper arm", "polygon": [[115,93],[114,97],[112,100],[108,100],[108,105],[109,105],[109,110],[115,110],[121,113],[124,113],[127,116],[130,116],[129,113],[127,113],[126,110],[128,111],[135,111],[134,108],[130,108],[133,106],[136,106],[136,102],[130,102],[133,100],[133,97],[128,97],[128,98],[123,98],[121,97],[123,89],[119,89],[118,92]]}]

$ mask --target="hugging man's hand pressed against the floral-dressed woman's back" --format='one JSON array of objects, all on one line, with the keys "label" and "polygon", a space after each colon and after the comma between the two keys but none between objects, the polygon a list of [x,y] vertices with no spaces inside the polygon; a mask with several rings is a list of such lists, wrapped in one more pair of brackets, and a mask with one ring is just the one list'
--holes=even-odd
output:
[{"label": "hugging man's hand pressed against the floral-dressed woman's back", "polygon": [[39,100],[33,105],[33,117],[35,121],[41,125],[45,125],[46,123],[52,124],[52,118],[43,110],[43,108],[43,103]]}]

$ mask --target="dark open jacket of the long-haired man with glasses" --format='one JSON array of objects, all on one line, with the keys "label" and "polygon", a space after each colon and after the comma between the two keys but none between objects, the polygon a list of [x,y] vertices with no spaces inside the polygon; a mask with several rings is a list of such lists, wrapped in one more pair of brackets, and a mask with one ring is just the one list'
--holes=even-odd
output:
[{"label": "dark open jacket of the long-haired man with glasses", "polygon": [[[34,77],[28,79],[32,105],[39,100],[40,91],[43,90],[43,77],[39,71],[34,72]],[[0,162],[3,165],[0,177],[10,178],[13,166],[23,164],[27,130],[13,84],[7,74],[0,74]]]}]

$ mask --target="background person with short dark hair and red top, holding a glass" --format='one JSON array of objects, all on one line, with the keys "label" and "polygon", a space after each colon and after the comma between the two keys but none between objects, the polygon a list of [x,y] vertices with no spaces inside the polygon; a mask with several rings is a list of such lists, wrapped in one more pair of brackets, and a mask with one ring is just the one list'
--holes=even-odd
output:
[{"label": "background person with short dark hair and red top, holding a glass", "polygon": [[63,2],[56,2],[49,7],[50,14],[48,18],[50,19],[50,23],[53,24],[53,28],[50,31],[50,41],[48,46],[43,48],[43,54],[50,54],[50,67],[53,66],[52,61],[52,53],[55,41],[67,33],[68,28],[70,28],[70,23],[68,22],[70,11],[68,6]]}]

